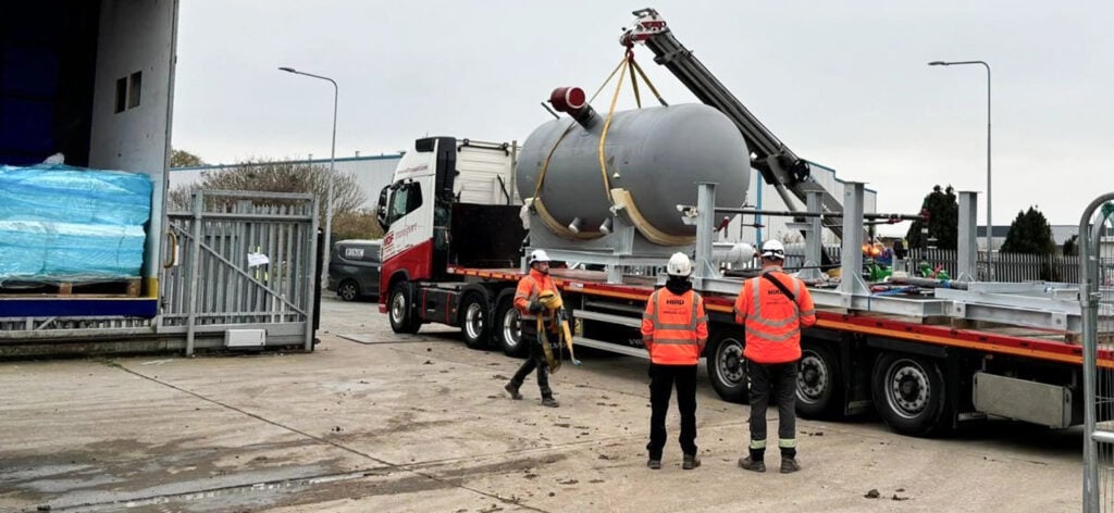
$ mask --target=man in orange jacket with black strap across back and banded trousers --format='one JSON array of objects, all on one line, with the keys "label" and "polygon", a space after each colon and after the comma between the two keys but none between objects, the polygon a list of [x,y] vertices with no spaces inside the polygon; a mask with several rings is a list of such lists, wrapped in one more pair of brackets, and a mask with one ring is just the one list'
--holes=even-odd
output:
[{"label": "man in orange jacket with black strap across back and banded trousers", "polygon": [[750,454],[739,466],[765,472],[766,406],[773,392],[778,403],[778,447],[781,473],[801,470],[797,462],[797,372],[801,359],[801,327],[817,323],[812,296],[804,283],[781,269],[785,247],[780,240],[762,245],[762,275],[743,283],[735,300],[735,322],[746,331],[746,374],[751,379]]}]

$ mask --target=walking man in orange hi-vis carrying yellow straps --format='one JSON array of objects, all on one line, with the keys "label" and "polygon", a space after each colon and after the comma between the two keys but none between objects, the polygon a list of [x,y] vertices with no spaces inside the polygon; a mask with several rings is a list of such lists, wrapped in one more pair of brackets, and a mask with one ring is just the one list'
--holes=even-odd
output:
[{"label": "walking man in orange hi-vis carrying yellow straps", "polygon": [[537,368],[541,405],[556,408],[560,404],[554,398],[554,393],[549,388],[549,363],[546,361],[545,348],[541,347],[538,339],[538,318],[541,318],[544,329],[553,331],[555,328],[555,312],[547,309],[539,300],[539,296],[541,293],[549,292],[559,297],[560,292],[557,290],[554,279],[549,276],[549,255],[544,249],[530,251],[526,263],[530,266],[530,273],[518,282],[518,288],[515,290],[515,308],[518,308],[522,316],[521,343],[529,346],[530,356],[526,358],[526,362],[522,362],[518,372],[504,389],[510,394],[511,398],[521,399],[522,394],[518,392],[518,388],[522,386],[526,376]]}]

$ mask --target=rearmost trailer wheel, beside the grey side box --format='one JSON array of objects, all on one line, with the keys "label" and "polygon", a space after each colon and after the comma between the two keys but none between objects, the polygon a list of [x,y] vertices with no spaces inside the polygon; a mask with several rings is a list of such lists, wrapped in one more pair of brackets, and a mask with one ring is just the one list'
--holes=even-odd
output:
[{"label": "rearmost trailer wheel, beside the grey side box", "polygon": [[900,353],[874,363],[871,389],[874,408],[893,431],[929,436],[948,428],[944,373],[937,361]]}]

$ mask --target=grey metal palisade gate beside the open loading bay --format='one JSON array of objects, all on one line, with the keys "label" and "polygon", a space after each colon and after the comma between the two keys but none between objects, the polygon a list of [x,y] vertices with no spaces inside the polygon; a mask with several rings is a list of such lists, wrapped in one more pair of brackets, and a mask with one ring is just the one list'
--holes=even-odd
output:
[{"label": "grey metal palisade gate beside the open loading bay", "polygon": [[195,346],[313,349],[317,201],[309,194],[197,191],[167,215],[158,333]]}]

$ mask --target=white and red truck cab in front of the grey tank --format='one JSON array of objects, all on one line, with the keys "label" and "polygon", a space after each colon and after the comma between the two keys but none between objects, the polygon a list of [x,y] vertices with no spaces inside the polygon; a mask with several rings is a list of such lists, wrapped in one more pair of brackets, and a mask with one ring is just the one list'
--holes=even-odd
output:
[{"label": "white and red truck cab in front of the grey tank", "polygon": [[[514,142],[453,137],[418,139],[403,155],[379,195],[377,216],[385,231],[380,312],[390,303],[392,323],[417,329],[429,309],[457,325],[460,290],[451,282],[459,278],[447,272],[450,265],[518,266],[525,230],[518,221],[517,155]],[[430,294],[430,286],[437,292]],[[416,308],[419,290],[429,304]]]}]

